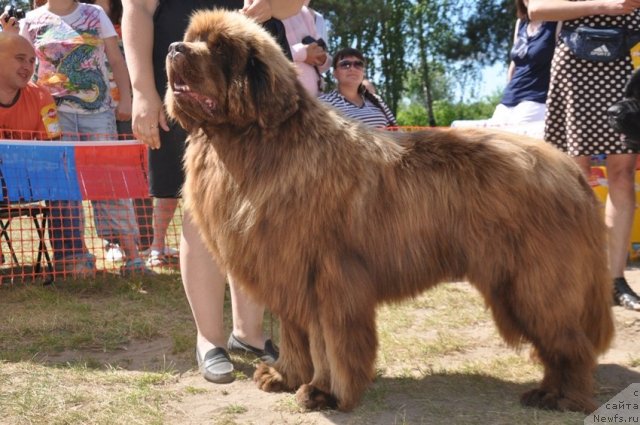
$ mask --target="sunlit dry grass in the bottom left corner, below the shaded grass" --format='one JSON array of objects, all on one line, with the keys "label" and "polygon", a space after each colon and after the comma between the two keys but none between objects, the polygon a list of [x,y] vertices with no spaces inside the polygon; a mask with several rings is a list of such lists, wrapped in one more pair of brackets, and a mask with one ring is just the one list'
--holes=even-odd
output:
[{"label": "sunlit dry grass in the bottom left corner, below the shaded grass", "polygon": [[159,424],[160,406],[177,396],[163,389],[173,380],[169,373],[5,362],[0,368],[0,421]]}]

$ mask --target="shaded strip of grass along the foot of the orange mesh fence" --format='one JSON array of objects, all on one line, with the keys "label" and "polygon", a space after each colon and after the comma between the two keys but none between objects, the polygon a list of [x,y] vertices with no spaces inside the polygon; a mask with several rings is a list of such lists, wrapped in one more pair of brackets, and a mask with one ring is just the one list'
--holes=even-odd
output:
[{"label": "shaded strip of grass along the foot of the orange mesh fence", "polygon": [[7,317],[0,322],[0,358],[9,361],[65,350],[109,352],[164,337],[176,341],[179,353],[195,332],[185,327],[190,315],[177,275],[0,287],[0,294]]}]

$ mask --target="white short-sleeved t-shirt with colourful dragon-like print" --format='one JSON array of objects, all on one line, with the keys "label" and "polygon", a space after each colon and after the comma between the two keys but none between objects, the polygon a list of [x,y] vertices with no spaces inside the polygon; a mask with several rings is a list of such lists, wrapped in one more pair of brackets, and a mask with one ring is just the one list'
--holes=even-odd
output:
[{"label": "white short-sleeved t-shirt with colourful dragon-like print", "polygon": [[104,39],[117,34],[101,7],[77,4],[66,16],[49,12],[46,5],[28,12],[20,34],[35,47],[36,81],[49,90],[60,111],[103,112],[113,108]]}]

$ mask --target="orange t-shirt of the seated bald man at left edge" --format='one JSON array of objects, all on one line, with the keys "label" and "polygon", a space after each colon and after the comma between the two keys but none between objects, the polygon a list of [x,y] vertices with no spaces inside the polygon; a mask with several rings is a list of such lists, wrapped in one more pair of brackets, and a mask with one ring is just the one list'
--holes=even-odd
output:
[{"label": "orange t-shirt of the seated bald man at left edge", "polygon": [[12,105],[0,104],[0,137],[51,140],[60,137],[55,101],[47,89],[29,82]]}]

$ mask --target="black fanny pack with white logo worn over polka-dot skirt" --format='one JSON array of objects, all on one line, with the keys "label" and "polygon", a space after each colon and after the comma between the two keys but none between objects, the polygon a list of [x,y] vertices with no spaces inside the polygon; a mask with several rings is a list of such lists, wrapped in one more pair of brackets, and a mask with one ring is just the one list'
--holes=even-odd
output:
[{"label": "black fanny pack with white logo worn over polka-dot skirt", "polygon": [[562,28],[560,38],[578,58],[591,62],[611,62],[629,55],[640,41],[640,33],[625,28]]}]

